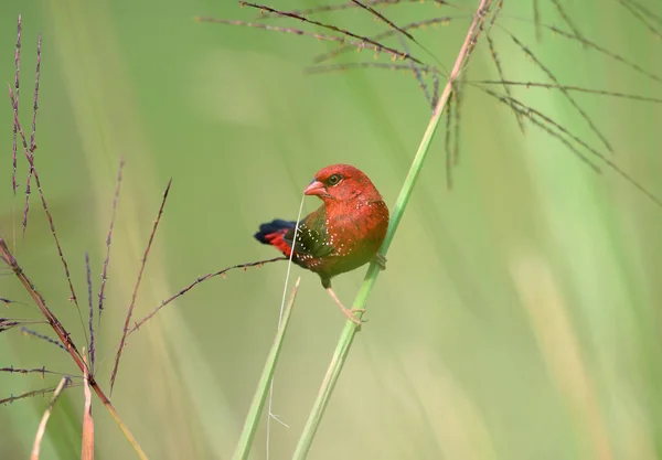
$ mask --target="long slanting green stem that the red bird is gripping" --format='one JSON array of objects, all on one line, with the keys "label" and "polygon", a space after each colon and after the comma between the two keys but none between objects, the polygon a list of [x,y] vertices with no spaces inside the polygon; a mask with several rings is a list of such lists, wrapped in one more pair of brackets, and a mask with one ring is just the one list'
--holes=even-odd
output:
[{"label": "long slanting green stem that the red bird is gripping", "polygon": [[[409,172],[407,173],[407,178],[405,179],[405,183],[401,190],[401,193],[395,202],[395,206],[393,208],[393,213],[391,215],[391,223],[388,225],[388,232],[386,233],[386,238],[384,239],[384,244],[380,249],[380,254],[383,256],[386,255],[391,243],[393,242],[393,237],[399,222],[403,218],[403,214],[405,208],[407,207],[407,203],[409,202],[409,197],[412,196],[412,192],[414,191],[414,185],[416,184],[416,180],[418,179],[418,174],[423,169],[423,163],[428,154],[430,142],[435,136],[435,131],[437,130],[437,126],[439,125],[439,120],[441,118],[441,114],[444,108],[448,104],[450,95],[453,90],[453,83],[460,75],[462,68],[466,66],[466,63],[476,45],[476,40],[481,31],[482,23],[484,22],[484,18],[488,13],[490,0],[480,0],[480,4],[478,7],[477,13],[473,17],[473,21],[471,22],[471,26],[467,33],[467,38],[460,49],[456,63],[450,72],[448,77],[448,82],[444,87],[444,93],[435,107],[435,111],[433,117],[428,124],[428,127],[423,135],[423,139],[418,147],[418,151],[414,157],[414,161],[412,162],[412,167],[409,168]],[[354,299],[353,307],[354,309],[363,309],[365,308],[365,303],[367,298],[372,291],[375,281],[377,280],[377,276],[380,274],[380,268],[376,263],[372,263],[365,274],[365,278],[363,279],[363,284]],[[312,409],[309,414],[308,421],[303,427],[303,431],[301,437],[299,438],[299,442],[297,445],[297,450],[292,457],[293,460],[303,460],[308,456],[310,447],[312,445],[312,440],[314,435],[319,428],[320,421],[329,404],[329,399],[331,397],[331,393],[335,387],[335,383],[338,382],[338,377],[342,372],[342,367],[346,361],[348,354],[352,346],[352,342],[354,341],[354,336],[357,332],[357,327],[352,321],[348,321],[345,323],[344,329],[342,330],[342,334],[335,346],[335,351],[333,353],[333,357],[331,359],[331,363],[329,365],[329,370],[327,371],[327,375],[322,382],[318,396],[314,400]]]}]

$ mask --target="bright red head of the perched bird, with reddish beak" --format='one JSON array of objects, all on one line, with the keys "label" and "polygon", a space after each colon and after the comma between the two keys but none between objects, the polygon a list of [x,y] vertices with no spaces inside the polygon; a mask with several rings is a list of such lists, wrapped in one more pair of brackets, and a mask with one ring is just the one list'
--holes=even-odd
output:
[{"label": "bright red head of the perched bird, with reddish beak", "polygon": [[369,201],[382,200],[367,175],[351,164],[332,164],[319,170],[303,193],[318,195],[328,204],[359,197]]}]

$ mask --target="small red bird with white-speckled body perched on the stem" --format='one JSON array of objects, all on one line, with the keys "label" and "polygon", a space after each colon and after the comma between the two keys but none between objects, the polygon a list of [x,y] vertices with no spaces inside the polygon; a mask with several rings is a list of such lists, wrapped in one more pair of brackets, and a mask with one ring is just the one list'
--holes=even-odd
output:
[{"label": "small red bird with white-speckled body perched on the stem", "polygon": [[361,320],[333,292],[331,278],[376,259],[382,269],[386,260],[377,254],[388,227],[388,207],[367,175],[350,164],[333,164],[320,170],[303,191],[317,195],[322,205],[299,222],[275,220],[259,226],[255,238],[279,249],[286,257],[318,274],[322,286],[354,323]]}]

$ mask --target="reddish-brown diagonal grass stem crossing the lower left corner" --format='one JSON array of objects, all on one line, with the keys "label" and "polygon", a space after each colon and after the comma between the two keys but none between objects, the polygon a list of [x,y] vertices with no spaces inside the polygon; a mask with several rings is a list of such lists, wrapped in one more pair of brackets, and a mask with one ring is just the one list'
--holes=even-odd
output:
[{"label": "reddish-brown diagonal grass stem crossing the lower left corner", "polygon": [[[34,174],[34,179],[39,181],[36,170],[35,170],[35,174]],[[34,301],[34,304],[40,309],[43,317],[46,319],[46,322],[49,323],[49,325],[57,334],[57,338],[60,339],[61,343],[64,345],[64,347],[68,352],[70,356],[72,356],[72,359],[76,363],[76,366],[78,366],[81,372],[84,373],[85,367],[87,367],[87,365],[83,361],[81,352],[78,352],[78,349],[76,347],[74,341],[72,340],[71,334],[64,328],[62,322],[60,322],[57,317],[55,317],[55,314],[53,314],[51,309],[46,306],[46,301],[44,300],[43,296],[38,291],[36,287],[34,286],[32,280],[28,277],[28,275],[22,269],[22,267],[19,265],[19,263],[18,263],[17,258],[13,256],[13,254],[11,254],[11,252],[9,250],[9,247],[7,246],[4,238],[1,235],[0,235],[0,260],[4,261],[9,266],[9,268],[12,270],[14,276],[19,279],[19,281],[21,281],[21,284],[23,285],[23,287],[25,288],[25,290],[28,291],[28,293]],[[134,435],[131,434],[131,431],[124,424],[124,421],[119,417],[119,414],[117,413],[117,410],[110,403],[110,399],[108,399],[108,397],[106,396],[104,391],[99,387],[97,382],[94,379],[94,376],[89,376],[88,381],[89,381],[89,386],[92,386],[92,388],[94,389],[94,392],[96,393],[98,398],[102,400],[102,404],[110,413],[110,415],[113,416],[113,418],[115,419],[115,421],[117,422],[119,428],[121,429],[122,434],[125,435],[125,437],[127,438],[127,440],[129,441],[129,443],[131,445],[131,447],[134,448],[134,450],[136,451],[138,457],[140,459],[147,459],[147,454],[145,453],[145,451],[142,450],[142,448],[136,440],[136,438],[134,438]],[[47,393],[50,391],[51,389],[46,389],[43,392]],[[38,394],[38,393],[33,392],[32,395],[34,395],[34,394]],[[17,400],[17,399],[20,399],[23,397],[28,397],[28,396],[29,395],[26,395],[26,394],[24,394],[20,397],[11,396],[10,398],[0,400],[0,404],[11,403],[13,400]]]}]

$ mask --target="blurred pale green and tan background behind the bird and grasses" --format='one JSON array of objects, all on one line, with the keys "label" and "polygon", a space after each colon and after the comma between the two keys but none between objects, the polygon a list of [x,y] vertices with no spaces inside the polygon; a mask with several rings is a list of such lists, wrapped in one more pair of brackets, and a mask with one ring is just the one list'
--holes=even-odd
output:
[{"label": "blurred pale green and tan background behind the bird and grasses", "polygon": [[[398,24],[440,15],[446,28],[415,36],[449,68],[478,2],[382,11]],[[630,2],[627,2],[631,4]],[[640,4],[658,15],[654,0]],[[314,2],[270,3],[280,9]],[[317,3],[320,4],[320,3]],[[618,1],[563,3],[583,34],[662,75],[661,43]],[[140,258],[170,176],[173,185],[135,318],[196,276],[275,256],[252,235],[293,218],[320,168],[350,162],[393,204],[430,115],[416,81],[380,69],[307,75],[313,39],[196,23],[196,15],[249,21],[232,1],[6,0],[0,2],[0,75],[13,82],[15,19],[23,15],[21,119],[29,127],[36,34],[43,32],[36,164],[84,314],[84,254],[98,291],[119,157],[127,160],[111,248],[106,310],[97,332],[98,379],[113,364]],[[662,85],[576,42],[543,32],[531,1],[508,1],[498,24],[526,43],[564,84],[660,97]],[[563,29],[553,2],[543,22]],[[364,11],[319,18],[363,34],[384,30]],[[655,19],[647,15],[653,24]],[[302,26],[285,19],[274,24]],[[505,76],[546,81],[499,28]],[[397,45],[397,41],[389,42]],[[468,77],[496,78],[484,41]],[[429,55],[413,45],[415,55]],[[371,60],[350,53],[349,60]],[[386,57],[382,57],[388,62]],[[346,60],[345,60],[346,61]],[[600,147],[556,90],[516,97]],[[312,459],[654,459],[662,457],[662,210],[604,168],[596,174],[566,147],[476,88],[465,93],[461,157],[446,189],[440,130],[388,268],[320,427]],[[662,109],[575,94],[607,135],[606,153],[662,196]],[[0,109],[0,231],[13,232],[12,114]],[[600,163],[598,163],[600,164]],[[20,161],[19,181],[26,176]],[[22,189],[21,189],[22,190]],[[319,203],[306,202],[306,211]],[[20,234],[20,211],[17,212]],[[36,194],[17,257],[79,346],[83,329]],[[113,402],[154,459],[232,454],[278,321],[286,264],[206,281],[130,336]],[[275,382],[270,458],[291,456],[324,375],[343,317],[317,276],[302,276]],[[334,282],[351,302],[364,270]],[[35,318],[13,277],[0,275],[4,317]],[[52,333],[46,328],[39,329]],[[76,374],[56,347],[0,336],[0,367]],[[0,375],[0,397],[57,384]],[[3,459],[23,459],[49,398],[0,407]],[[60,399],[44,459],[79,457],[83,391]],[[135,454],[95,399],[96,454]],[[264,424],[254,458],[265,457]]]}]

